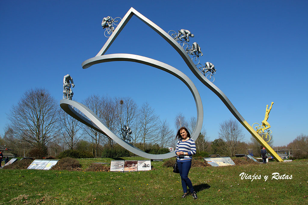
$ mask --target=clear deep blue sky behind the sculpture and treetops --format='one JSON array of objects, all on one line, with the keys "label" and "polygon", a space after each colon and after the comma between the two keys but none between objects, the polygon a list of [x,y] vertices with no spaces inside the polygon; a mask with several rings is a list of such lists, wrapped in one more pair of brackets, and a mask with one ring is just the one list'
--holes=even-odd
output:
[{"label": "clear deep blue sky behind the sculpture and treetops", "polygon": [[[132,62],[109,62],[82,69],[107,38],[103,17],[123,17],[135,8],[163,30],[190,30],[210,61],[215,82],[249,124],[268,122],[274,146],[308,134],[308,1],[1,1],[0,134],[6,113],[31,88],[45,87],[62,99],[63,76],[75,83],[74,100],[91,94],[130,96],[148,103],[174,127],[182,112],[196,116],[188,88],[161,70]],[[133,53],[162,61],[185,73],[204,106],[203,128],[218,138],[219,124],[233,115],[185,65],[178,53],[138,18],[126,25],[108,53]],[[244,130],[245,141],[250,134]]]}]

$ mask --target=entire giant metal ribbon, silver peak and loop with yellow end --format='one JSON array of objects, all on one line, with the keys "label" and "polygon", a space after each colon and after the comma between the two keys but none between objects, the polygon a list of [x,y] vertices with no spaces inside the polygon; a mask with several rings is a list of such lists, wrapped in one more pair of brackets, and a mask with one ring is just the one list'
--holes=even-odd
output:
[{"label": "entire giant metal ribbon, silver peak and loop with yellow end", "polygon": [[[193,61],[188,56],[186,51],[183,49],[183,47],[176,42],[171,36],[169,36],[164,30],[162,30],[159,26],[154,24],[152,21],[150,21],[148,18],[140,14],[138,11],[136,11],[134,8],[130,8],[130,10],[125,14],[124,18],[120,22],[119,26],[115,28],[115,30],[112,32],[111,36],[108,38],[106,43],[103,45],[102,49],[99,51],[99,53],[93,57],[90,58],[82,63],[83,69],[89,68],[91,65],[95,65],[97,63],[103,63],[103,62],[111,62],[111,61],[133,61],[137,63],[143,63],[145,65],[150,65],[152,67],[164,70],[176,77],[178,77],[181,81],[185,83],[185,85],[188,86],[190,91],[192,92],[196,106],[197,106],[197,125],[193,130],[192,138],[197,139],[201,127],[202,127],[202,121],[203,121],[203,107],[201,104],[201,98],[199,96],[199,93],[196,89],[196,87],[193,85],[191,80],[182,72],[179,70],[173,68],[170,65],[164,64],[163,62],[156,61],[151,58],[133,55],[133,54],[124,54],[124,53],[117,53],[117,54],[108,54],[104,55],[107,49],[111,46],[112,42],[115,40],[115,38],[120,34],[120,32],[123,30],[125,25],[128,23],[128,21],[132,18],[132,16],[135,15],[137,18],[139,18],[142,22],[144,22],[146,25],[148,25],[150,28],[152,28],[156,33],[158,33],[161,37],[163,37],[183,58],[184,62],[188,66],[188,68],[195,74],[195,76],[210,90],[212,90],[220,99],[223,101],[223,103],[226,105],[226,107],[230,110],[230,112],[236,117],[238,121],[257,139],[258,142],[261,144],[264,144],[263,146],[266,148],[266,150],[277,160],[282,161],[282,159],[278,156],[276,152],[267,144],[265,141],[257,134],[256,131],[253,130],[253,128],[246,122],[246,120],[240,115],[240,113],[236,110],[236,108],[233,106],[233,104],[229,101],[229,99],[225,96],[225,94],[217,88],[212,82],[210,82],[203,74],[201,75],[200,70],[196,67],[196,65],[193,64]],[[91,111],[89,108],[85,107],[84,105],[75,102],[75,101],[68,101],[68,100],[61,100],[60,106],[65,112],[76,118],[77,120],[83,122],[84,124],[87,124],[91,128],[96,129],[97,131],[101,133],[105,133],[107,136],[115,140],[118,144],[120,144],[122,147],[128,149],[129,151],[148,158],[148,159],[166,159],[175,156],[174,152],[170,152],[163,155],[151,155],[148,153],[145,153],[141,151],[138,148],[135,148],[133,145],[129,144],[128,142],[125,142],[124,140],[120,139],[118,136],[116,136],[111,130],[103,124],[103,122]],[[76,112],[72,106],[79,109],[84,115],[86,115],[90,120],[87,118],[81,116],[78,112]],[[96,117],[95,117],[96,116]]]}]

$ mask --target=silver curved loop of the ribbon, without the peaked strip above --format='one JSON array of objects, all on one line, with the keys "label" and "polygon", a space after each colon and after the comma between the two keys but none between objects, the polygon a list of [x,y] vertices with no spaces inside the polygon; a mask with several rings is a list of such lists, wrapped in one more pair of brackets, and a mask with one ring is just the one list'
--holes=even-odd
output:
[{"label": "silver curved loop of the ribbon, without the peaked strip above", "polygon": [[[97,56],[88,59],[87,61],[83,62],[84,66],[90,67],[91,65],[103,63],[103,62],[111,62],[111,61],[132,61],[137,62],[145,65],[152,66],[154,68],[158,68],[160,70],[166,71],[175,77],[179,78],[184,84],[188,87],[190,92],[193,94],[193,97],[196,102],[197,107],[197,123],[196,127],[193,130],[192,138],[194,140],[197,139],[199,136],[199,133],[201,132],[202,128],[202,122],[203,122],[203,106],[201,102],[201,97],[199,95],[199,92],[196,88],[196,86],[193,84],[193,82],[181,71],[178,69],[165,64],[160,61],[156,61],[154,59],[144,57],[144,56],[138,56],[133,54],[127,54],[127,53],[116,53],[116,54],[108,54],[103,56]],[[76,101],[71,100],[61,100],[60,101],[61,108],[67,112],[69,115],[74,117],[76,120],[79,120],[83,124],[86,124],[87,126],[97,130],[98,132],[110,137],[112,140],[114,140],[116,143],[120,144],[122,147],[127,149],[130,152],[135,153],[136,155],[142,156],[144,158],[148,159],[166,159],[175,156],[174,152],[170,152],[167,154],[160,154],[160,155],[153,155],[143,152],[142,150],[136,148],[132,144],[129,144],[128,142],[122,140],[120,137],[116,136],[115,133],[113,133],[97,115],[95,115],[94,112],[92,112],[89,108],[87,108],[85,105],[78,103]],[[87,118],[80,115],[78,112],[76,112],[71,106],[78,109],[80,112],[82,112]]]}]

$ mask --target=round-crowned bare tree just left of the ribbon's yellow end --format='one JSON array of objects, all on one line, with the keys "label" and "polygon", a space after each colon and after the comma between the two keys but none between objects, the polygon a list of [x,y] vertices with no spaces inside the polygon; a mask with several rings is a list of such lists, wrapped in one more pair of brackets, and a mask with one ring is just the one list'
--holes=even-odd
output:
[{"label": "round-crowned bare tree just left of the ribbon's yellow end", "polygon": [[243,128],[240,126],[239,122],[234,119],[226,120],[219,125],[218,135],[226,141],[230,156],[234,156],[237,142],[244,138]]}]

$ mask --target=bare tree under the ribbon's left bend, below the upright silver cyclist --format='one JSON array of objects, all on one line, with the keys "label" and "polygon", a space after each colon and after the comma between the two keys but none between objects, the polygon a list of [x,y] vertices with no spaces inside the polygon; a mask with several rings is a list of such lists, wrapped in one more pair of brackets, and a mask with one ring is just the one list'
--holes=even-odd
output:
[{"label": "bare tree under the ribbon's left bend, below the upright silver cyclist", "polygon": [[78,120],[71,117],[64,111],[60,111],[61,132],[63,141],[70,149],[74,149],[81,140],[82,135],[79,133],[81,124]]}]

